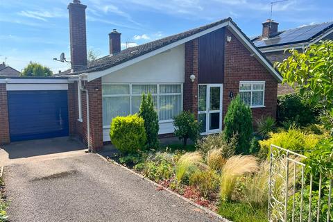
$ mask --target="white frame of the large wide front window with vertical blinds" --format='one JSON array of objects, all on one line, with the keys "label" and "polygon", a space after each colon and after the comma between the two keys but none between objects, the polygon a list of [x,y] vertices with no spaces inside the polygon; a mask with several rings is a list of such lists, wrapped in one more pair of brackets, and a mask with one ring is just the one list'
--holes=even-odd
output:
[{"label": "white frame of the large wide front window with vertical blinds", "polygon": [[[130,114],[134,114],[132,110],[132,97],[133,96],[142,96],[142,94],[133,94],[132,86],[133,85],[157,85],[157,91],[155,94],[151,94],[152,96],[157,96],[157,114],[160,110],[160,96],[178,96],[181,95],[181,110],[183,110],[183,83],[102,83],[103,85],[129,85],[130,94],[107,94],[102,95],[102,98],[106,97],[121,97],[121,96],[129,96],[130,97]],[[160,93],[160,85],[180,85],[180,93]],[[159,120],[158,123],[172,123],[173,119],[167,120]],[[103,129],[109,129],[110,126],[103,126]]]}]

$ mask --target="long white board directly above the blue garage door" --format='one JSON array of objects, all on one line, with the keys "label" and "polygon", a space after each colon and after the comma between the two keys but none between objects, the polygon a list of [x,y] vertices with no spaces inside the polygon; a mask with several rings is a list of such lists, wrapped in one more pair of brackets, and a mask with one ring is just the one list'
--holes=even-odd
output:
[{"label": "long white board directly above the blue garage door", "polygon": [[67,84],[7,84],[7,91],[67,90]]}]

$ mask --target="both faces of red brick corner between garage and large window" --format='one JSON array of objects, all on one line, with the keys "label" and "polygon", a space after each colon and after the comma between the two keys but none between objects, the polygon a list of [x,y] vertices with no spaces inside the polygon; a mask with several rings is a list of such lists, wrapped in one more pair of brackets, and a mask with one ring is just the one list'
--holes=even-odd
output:
[{"label": "both faces of red brick corner between garage and large window", "polygon": [[[98,151],[103,148],[103,114],[102,114],[102,85],[101,78],[91,82],[84,81],[83,86],[89,92],[89,124],[90,124],[90,146],[93,151]],[[87,103],[86,93],[81,93],[82,98],[82,119],[78,121],[78,86],[74,83],[74,128],[76,134],[82,141],[87,144]],[[97,89],[97,90],[96,90]],[[69,123],[71,126],[71,123]]]}]

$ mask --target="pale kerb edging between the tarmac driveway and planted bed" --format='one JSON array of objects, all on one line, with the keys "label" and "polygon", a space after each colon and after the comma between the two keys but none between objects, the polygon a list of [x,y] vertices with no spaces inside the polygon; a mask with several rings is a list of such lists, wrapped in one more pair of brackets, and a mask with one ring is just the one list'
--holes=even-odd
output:
[{"label": "pale kerb edging between the tarmac driveway and planted bed", "polygon": [[135,174],[136,176],[139,176],[139,178],[142,178],[143,180],[146,180],[147,182],[151,183],[151,185],[154,185],[155,187],[161,189],[161,190],[165,190],[167,192],[169,192],[169,194],[172,194],[174,196],[177,196],[178,198],[185,200],[187,203],[189,203],[190,205],[193,205],[194,207],[199,208],[200,210],[203,210],[203,212],[205,212],[205,214],[209,214],[210,216],[214,216],[216,219],[219,219],[222,222],[232,222],[229,221],[228,219],[223,218],[220,214],[217,214],[216,212],[213,212],[212,210],[207,209],[206,207],[203,207],[201,205],[198,205],[197,203],[194,203],[194,201],[189,200],[187,198],[185,198],[184,196],[181,196],[180,194],[177,194],[176,192],[172,191],[171,189],[167,188],[167,187],[163,187],[162,185],[157,184],[157,182],[154,182],[153,180],[149,180],[148,178],[146,178],[145,176],[142,176],[141,174],[133,171],[132,169],[129,169],[117,162],[115,162],[114,160],[112,160],[110,157],[103,157],[103,155],[99,154],[99,153],[94,153],[96,155],[99,155],[99,157],[101,157],[103,160],[105,160],[106,162],[115,164],[123,169],[126,169],[127,171],[129,171],[130,173]]}]

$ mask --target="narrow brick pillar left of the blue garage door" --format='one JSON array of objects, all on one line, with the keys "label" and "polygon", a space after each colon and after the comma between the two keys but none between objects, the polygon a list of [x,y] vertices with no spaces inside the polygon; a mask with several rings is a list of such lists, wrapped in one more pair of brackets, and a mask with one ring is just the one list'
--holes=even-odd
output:
[{"label": "narrow brick pillar left of the blue garage door", "polygon": [[6,84],[0,84],[0,144],[9,144],[9,122]]}]

